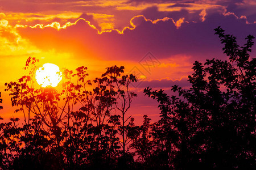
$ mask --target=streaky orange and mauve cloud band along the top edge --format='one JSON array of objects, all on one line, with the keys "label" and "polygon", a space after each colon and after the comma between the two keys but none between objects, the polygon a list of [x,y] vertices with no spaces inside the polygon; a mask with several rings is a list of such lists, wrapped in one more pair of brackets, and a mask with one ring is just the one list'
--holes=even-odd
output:
[{"label": "streaky orange and mauve cloud band along the top edge", "polygon": [[[240,18],[246,16],[249,23],[254,23],[256,12],[254,1],[0,1],[2,11],[7,14],[9,23],[22,25],[48,25],[58,22],[63,25],[74,23],[83,14],[100,31],[109,29],[122,30],[129,25],[133,16],[143,15],[147,19],[171,18],[175,22],[184,18],[184,22],[200,22],[211,12],[233,12]],[[147,12],[148,11],[148,12]],[[83,18],[83,17],[80,17]],[[94,20],[94,22],[93,22]]]}]

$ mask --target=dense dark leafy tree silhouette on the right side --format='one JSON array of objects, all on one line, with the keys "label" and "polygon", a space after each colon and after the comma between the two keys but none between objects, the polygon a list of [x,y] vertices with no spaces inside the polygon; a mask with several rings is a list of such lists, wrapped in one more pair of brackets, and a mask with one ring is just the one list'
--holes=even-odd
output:
[{"label": "dense dark leafy tree silhouette on the right side", "polygon": [[[134,139],[133,147],[145,164],[175,169],[255,169],[256,58],[249,56],[254,36],[247,36],[240,47],[236,37],[225,35],[220,27],[214,31],[229,61],[196,61],[194,73],[188,76],[191,88],[171,88],[179,97],[149,87],[144,90],[158,101],[161,111],[161,120],[149,127],[149,135],[142,130],[142,138]],[[149,141],[147,148],[138,147],[144,140]],[[156,156],[162,158],[160,162]]]}]

